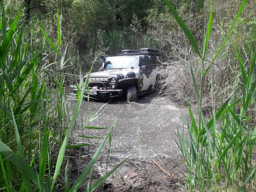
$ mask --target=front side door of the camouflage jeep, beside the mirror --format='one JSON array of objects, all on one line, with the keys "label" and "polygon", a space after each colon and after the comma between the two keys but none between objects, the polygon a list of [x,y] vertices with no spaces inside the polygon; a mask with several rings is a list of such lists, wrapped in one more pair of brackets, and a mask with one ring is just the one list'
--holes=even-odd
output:
[{"label": "front side door of the camouflage jeep, beside the mirror", "polygon": [[[140,58],[140,76],[138,79],[138,91],[142,92],[142,91],[147,91],[148,89],[150,90],[152,88],[151,85],[151,70],[149,70],[149,58],[148,57],[141,57]],[[146,69],[142,70],[142,66],[145,66]]]}]

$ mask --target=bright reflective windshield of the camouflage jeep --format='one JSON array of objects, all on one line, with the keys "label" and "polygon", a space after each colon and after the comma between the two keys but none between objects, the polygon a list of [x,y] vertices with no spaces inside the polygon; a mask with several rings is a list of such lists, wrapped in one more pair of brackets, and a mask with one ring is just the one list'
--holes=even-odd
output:
[{"label": "bright reflective windshield of the camouflage jeep", "polygon": [[136,68],[139,57],[109,57],[106,58],[106,69]]}]

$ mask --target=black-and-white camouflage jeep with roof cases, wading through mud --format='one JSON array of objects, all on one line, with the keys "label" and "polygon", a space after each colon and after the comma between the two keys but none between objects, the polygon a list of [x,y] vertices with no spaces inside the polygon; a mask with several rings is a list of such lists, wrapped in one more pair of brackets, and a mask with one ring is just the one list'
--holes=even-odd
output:
[{"label": "black-and-white camouflage jeep with roof cases, wading through mud", "polygon": [[102,67],[89,77],[90,97],[126,96],[127,102],[137,102],[138,94],[156,89],[160,55],[156,49],[143,48],[140,51],[122,50],[115,57],[101,56]]}]

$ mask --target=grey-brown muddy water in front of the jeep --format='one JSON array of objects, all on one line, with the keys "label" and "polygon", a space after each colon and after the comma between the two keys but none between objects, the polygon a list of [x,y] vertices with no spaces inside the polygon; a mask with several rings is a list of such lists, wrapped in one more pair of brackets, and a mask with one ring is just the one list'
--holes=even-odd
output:
[{"label": "grey-brown muddy water in front of the jeep", "polygon": [[[75,100],[74,97],[71,99]],[[71,102],[72,109],[74,102]],[[103,106],[103,107],[102,107]],[[93,121],[85,124],[88,117],[102,107],[98,117]],[[88,111],[85,115],[85,111]],[[179,148],[175,142],[177,140],[177,128],[182,132],[183,118],[182,114],[188,119],[187,108],[178,106],[168,96],[158,96],[155,94],[146,95],[139,99],[139,103],[128,104],[122,100],[111,102],[84,101],[81,106],[81,112],[77,118],[79,127],[75,130],[75,135],[86,135],[95,137],[104,137],[108,129],[88,130],[81,129],[81,126],[110,127],[118,116],[113,129],[111,141],[111,156],[109,164],[107,156],[109,145],[102,150],[97,161],[99,171],[104,172],[106,166],[110,170],[124,158],[130,156],[128,160],[116,175],[124,175],[131,170],[138,160],[149,161],[151,158],[173,157],[180,154]],[[70,110],[72,116],[73,111]],[[184,126],[187,134],[186,126]],[[91,134],[91,135],[89,135]],[[88,150],[92,155],[100,144],[100,139],[90,139],[76,137],[78,143],[90,142],[94,147]],[[178,140],[177,140],[178,141]],[[107,140],[108,142],[108,140]]]}]

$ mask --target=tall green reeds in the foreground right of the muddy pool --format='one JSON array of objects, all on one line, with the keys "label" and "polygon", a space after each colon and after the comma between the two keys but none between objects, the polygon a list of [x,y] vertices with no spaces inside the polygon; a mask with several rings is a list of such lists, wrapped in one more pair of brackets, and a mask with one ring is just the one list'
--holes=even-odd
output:
[{"label": "tall green reeds in the foreground right of the muddy pool", "polygon": [[[208,66],[204,61],[207,58],[207,48],[212,30],[213,1],[208,17],[207,27],[204,33],[204,45],[202,50],[198,47],[196,39],[180,19],[168,0],[164,0],[173,13],[176,21],[184,31],[192,48],[200,57],[201,81],[198,89],[194,70],[188,54],[188,65],[194,84],[194,91],[197,99],[198,122],[188,101],[188,108],[191,123],[187,123],[188,139],[178,131],[180,151],[185,158],[190,191],[255,191],[256,166],[253,153],[255,152],[256,127],[254,121],[255,100],[256,100],[256,78],[255,58],[256,48],[249,45],[248,50],[239,55],[236,52],[237,62],[240,65],[240,72],[233,84],[233,92],[222,102],[219,110],[212,106],[212,116],[207,119],[201,108],[202,94],[204,88],[204,76],[214,65],[225,46],[236,21],[243,11],[246,0],[241,4],[228,35],[223,40],[219,50]],[[256,34],[254,32],[255,38]],[[246,68],[245,66],[249,66]],[[236,89],[242,88],[242,96],[237,97]],[[214,91],[214,84],[211,86]],[[212,102],[213,102],[212,98]],[[253,114],[254,113],[254,114]],[[184,118],[185,119],[185,118]]]}]

